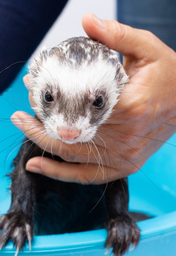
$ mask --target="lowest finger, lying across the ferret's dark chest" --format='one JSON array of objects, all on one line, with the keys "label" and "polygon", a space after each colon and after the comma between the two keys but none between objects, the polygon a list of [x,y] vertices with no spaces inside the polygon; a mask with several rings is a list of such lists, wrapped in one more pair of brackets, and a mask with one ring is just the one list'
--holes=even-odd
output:
[{"label": "lowest finger, lying across the ferret's dark chest", "polygon": [[46,157],[33,157],[29,159],[26,170],[39,173],[47,177],[64,182],[81,184],[105,184],[122,178],[116,169],[102,170],[98,164],[73,164],[58,162]]}]

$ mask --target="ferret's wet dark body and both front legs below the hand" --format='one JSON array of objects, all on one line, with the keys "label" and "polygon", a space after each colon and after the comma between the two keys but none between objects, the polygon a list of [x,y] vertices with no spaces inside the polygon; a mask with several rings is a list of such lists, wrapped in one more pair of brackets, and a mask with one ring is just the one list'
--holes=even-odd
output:
[{"label": "ferret's wet dark body and both front legs below the hand", "polygon": [[[128,214],[127,180],[109,183],[105,200],[91,209],[101,197],[105,185],[80,185],[65,183],[25,171],[29,158],[42,155],[35,144],[25,138],[10,174],[12,203],[8,213],[0,218],[0,228],[6,228],[0,236],[4,246],[16,227],[19,235],[13,239],[16,247],[22,248],[27,238],[25,224],[31,227],[29,234],[59,234],[104,227],[108,234],[106,246],[113,246],[114,255],[123,255],[130,243],[138,243],[140,231]],[[51,154],[44,153],[51,157]],[[57,160],[62,161],[59,157]],[[115,232],[114,232],[115,228]],[[32,231],[33,230],[33,231]],[[29,238],[28,238],[29,239]]]}]

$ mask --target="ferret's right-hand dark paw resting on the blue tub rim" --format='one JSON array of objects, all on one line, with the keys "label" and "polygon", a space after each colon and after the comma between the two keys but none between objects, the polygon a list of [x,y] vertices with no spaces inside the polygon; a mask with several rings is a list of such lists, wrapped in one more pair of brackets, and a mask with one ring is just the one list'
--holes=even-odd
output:
[{"label": "ferret's right-hand dark paw resting on the blue tub rim", "polygon": [[114,256],[122,256],[129,250],[132,243],[132,249],[138,244],[140,239],[140,229],[129,216],[117,216],[109,219],[107,222],[107,240],[105,246],[107,252],[112,247]]}]

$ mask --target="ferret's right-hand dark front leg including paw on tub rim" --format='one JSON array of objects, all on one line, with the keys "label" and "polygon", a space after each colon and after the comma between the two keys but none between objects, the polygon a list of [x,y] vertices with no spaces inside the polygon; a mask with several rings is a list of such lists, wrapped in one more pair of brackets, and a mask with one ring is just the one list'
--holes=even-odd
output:
[{"label": "ferret's right-hand dark front leg including paw on tub rim", "polygon": [[135,247],[140,239],[140,230],[128,215],[127,179],[116,180],[108,184],[105,192],[107,204],[107,251],[113,247],[114,256],[122,256],[132,243]]}]

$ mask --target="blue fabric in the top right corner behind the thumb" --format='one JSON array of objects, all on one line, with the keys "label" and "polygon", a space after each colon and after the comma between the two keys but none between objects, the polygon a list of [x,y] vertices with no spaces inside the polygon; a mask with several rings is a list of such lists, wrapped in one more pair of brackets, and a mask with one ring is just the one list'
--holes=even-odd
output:
[{"label": "blue fabric in the top right corner behind the thumb", "polygon": [[175,0],[118,0],[118,21],[153,32],[176,51]]}]

